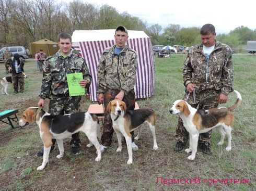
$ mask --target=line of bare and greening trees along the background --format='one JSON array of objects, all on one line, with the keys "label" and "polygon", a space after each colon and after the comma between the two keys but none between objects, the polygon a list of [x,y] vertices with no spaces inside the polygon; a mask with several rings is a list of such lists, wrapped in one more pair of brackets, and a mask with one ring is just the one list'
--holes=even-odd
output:
[{"label": "line of bare and greening trees along the background", "polygon": [[[147,27],[147,22],[119,12],[114,7],[74,0],[67,4],[55,0],[0,0],[0,46],[22,45],[41,39],[57,40],[61,32],[72,34],[75,30],[115,29],[119,25],[129,30],[142,30],[153,45],[192,46],[200,42],[200,28],[181,28],[169,24],[162,29],[159,24]],[[217,40],[231,47],[256,40],[256,30],[237,27],[228,34],[218,34]]]}]

